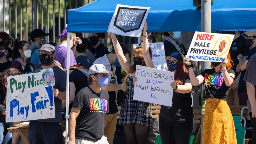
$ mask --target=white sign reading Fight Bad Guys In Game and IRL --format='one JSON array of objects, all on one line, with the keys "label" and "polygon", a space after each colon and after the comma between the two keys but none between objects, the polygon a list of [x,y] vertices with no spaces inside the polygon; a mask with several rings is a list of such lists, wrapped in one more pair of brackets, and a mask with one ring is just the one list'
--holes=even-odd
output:
[{"label": "white sign reading Fight Bad Guys In Game and IRL", "polygon": [[137,65],[135,76],[134,100],[172,106],[173,72]]}]

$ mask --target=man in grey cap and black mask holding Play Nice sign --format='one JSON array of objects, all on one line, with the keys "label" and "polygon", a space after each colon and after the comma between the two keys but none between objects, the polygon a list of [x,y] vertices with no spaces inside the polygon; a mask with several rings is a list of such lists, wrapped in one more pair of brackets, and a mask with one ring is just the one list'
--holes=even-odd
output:
[{"label": "man in grey cap and black mask holding Play Nice sign", "polygon": [[42,45],[40,48],[40,62],[42,69],[52,68],[54,72],[55,86],[53,86],[55,118],[39,119],[29,123],[29,143],[55,143],[62,144],[62,100],[66,100],[66,73],[54,63],[55,48],[50,44]]}]

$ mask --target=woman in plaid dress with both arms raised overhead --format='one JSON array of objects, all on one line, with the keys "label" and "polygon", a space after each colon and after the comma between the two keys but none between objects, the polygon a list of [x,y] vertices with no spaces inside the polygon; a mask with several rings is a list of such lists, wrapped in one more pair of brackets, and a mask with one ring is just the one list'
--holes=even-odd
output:
[{"label": "woman in plaid dress with both arms raised overhead", "polygon": [[133,50],[133,65],[126,60],[116,36],[114,34],[110,34],[118,61],[120,62],[124,71],[127,73],[123,81],[126,85],[126,94],[123,99],[119,119],[119,125],[124,125],[127,144],[147,143],[148,130],[149,127],[152,127],[153,122],[150,103],[133,100],[133,78],[135,75],[136,65],[154,68],[154,64],[152,62],[152,52],[148,45],[146,30],[147,23],[144,22],[142,31],[143,47],[138,46]]}]

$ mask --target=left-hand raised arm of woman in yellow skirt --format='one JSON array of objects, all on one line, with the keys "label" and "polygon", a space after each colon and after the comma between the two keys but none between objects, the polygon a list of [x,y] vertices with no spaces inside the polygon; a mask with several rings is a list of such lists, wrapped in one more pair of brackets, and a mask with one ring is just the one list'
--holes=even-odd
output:
[{"label": "left-hand raised arm of woman in yellow skirt", "polygon": [[[186,65],[190,66],[192,63],[190,62],[190,58],[183,58],[183,61]],[[198,86],[203,83],[204,77],[202,75],[198,75],[197,77],[194,74],[193,67],[189,68],[189,78],[191,84],[193,86]]]}]

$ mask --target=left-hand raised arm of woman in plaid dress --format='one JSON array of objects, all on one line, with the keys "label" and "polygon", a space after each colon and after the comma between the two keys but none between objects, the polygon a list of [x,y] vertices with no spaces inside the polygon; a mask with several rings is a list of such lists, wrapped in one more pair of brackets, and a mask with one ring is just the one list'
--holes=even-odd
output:
[{"label": "left-hand raised arm of woman in plaid dress", "polygon": [[118,58],[118,61],[120,62],[120,65],[122,66],[123,70],[128,73],[130,70],[130,67],[132,66],[127,59],[125,58],[124,54],[123,54],[123,50],[122,47],[120,46],[116,35],[115,34],[111,34],[109,33],[112,39],[112,43],[116,52],[116,56]]}]

